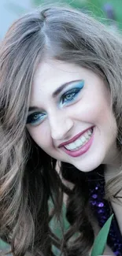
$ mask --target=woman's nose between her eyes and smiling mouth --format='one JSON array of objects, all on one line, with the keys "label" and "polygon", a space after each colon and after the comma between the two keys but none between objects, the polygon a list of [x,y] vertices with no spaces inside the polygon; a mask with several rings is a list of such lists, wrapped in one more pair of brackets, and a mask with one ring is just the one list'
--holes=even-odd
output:
[{"label": "woman's nose between her eyes and smiling mouth", "polygon": [[73,126],[72,118],[65,113],[54,113],[49,117],[50,131],[53,139],[64,139]]}]

